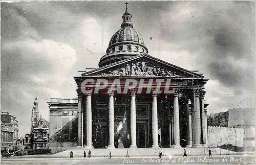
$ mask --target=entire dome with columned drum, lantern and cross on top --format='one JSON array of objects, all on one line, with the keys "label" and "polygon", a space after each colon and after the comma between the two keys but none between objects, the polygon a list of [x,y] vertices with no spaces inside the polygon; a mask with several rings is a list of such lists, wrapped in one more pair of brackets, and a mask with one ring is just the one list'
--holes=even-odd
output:
[{"label": "entire dome with columned drum, lantern and cross on top", "polygon": [[111,37],[106,54],[99,61],[99,67],[148,53],[141,34],[133,28],[132,15],[127,11],[128,3],[125,4],[126,10],[122,15],[121,29]]}]

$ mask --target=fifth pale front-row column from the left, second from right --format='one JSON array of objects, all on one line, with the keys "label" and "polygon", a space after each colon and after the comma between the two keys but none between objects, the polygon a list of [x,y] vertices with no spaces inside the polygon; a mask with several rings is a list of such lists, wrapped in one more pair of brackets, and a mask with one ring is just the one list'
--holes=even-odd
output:
[{"label": "fifth pale front-row column from the left, second from right", "polygon": [[180,147],[179,95],[174,95],[174,147]]}]

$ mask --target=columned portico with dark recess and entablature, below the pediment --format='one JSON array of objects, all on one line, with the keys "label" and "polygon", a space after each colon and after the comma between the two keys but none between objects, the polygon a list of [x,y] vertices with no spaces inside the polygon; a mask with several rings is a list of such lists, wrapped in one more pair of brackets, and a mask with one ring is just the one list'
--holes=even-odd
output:
[{"label": "columned portico with dark recess and entablature, below the pediment", "polygon": [[[78,87],[89,78],[94,79],[94,84],[97,84],[97,80],[103,77],[75,77]],[[109,81],[123,80],[119,76],[104,78]],[[129,77],[131,78],[139,79]],[[124,148],[180,148],[205,145],[206,126],[202,117],[205,113],[202,111],[205,80],[201,79],[200,82],[197,78],[197,82],[192,84],[191,81],[196,78],[165,79],[172,81],[173,87],[170,91],[173,90],[173,93],[165,94],[154,89],[150,93],[138,93],[138,88],[128,90],[127,93],[118,93],[118,90],[94,93],[93,87],[83,93],[78,88],[78,146],[113,149],[120,147],[116,147],[118,140]],[[125,84],[125,81],[121,82]],[[181,82],[184,85],[181,85]],[[145,85],[143,91],[148,88],[152,88],[152,85]],[[188,109],[188,103],[191,103],[191,110]]]}]

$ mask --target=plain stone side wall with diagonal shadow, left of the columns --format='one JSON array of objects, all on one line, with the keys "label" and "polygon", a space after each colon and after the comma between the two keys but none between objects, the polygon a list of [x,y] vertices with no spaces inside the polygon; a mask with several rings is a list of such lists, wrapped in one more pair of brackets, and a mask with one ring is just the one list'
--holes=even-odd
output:
[{"label": "plain stone side wall with diagonal shadow, left of the columns", "polygon": [[50,108],[50,148],[59,152],[77,146],[78,100],[56,99],[48,102]]}]

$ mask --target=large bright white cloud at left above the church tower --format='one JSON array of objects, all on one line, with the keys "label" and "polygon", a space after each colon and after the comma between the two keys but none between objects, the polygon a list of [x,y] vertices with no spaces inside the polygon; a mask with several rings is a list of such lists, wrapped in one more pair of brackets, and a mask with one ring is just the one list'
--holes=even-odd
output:
[{"label": "large bright white cloud at left above the church tower", "polygon": [[14,8],[2,14],[7,19],[2,22],[2,110],[17,116],[22,135],[30,129],[27,116],[36,96],[47,120],[46,99],[76,96],[75,90],[66,90],[76,88],[71,76],[76,52],[66,43],[43,39]]}]

